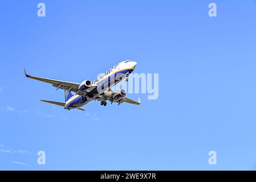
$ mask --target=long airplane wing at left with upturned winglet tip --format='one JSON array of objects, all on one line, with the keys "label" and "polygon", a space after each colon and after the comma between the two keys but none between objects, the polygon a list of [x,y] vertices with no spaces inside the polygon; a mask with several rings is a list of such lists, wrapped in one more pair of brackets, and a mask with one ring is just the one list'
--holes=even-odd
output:
[{"label": "long airplane wing at left with upturned winglet tip", "polygon": [[26,69],[24,69],[25,76],[28,78],[32,78],[34,80],[39,80],[43,82],[47,82],[49,84],[52,84],[52,86],[55,86],[58,89],[63,89],[63,90],[69,90],[73,92],[78,92],[78,87],[80,84],[74,83],[74,82],[67,82],[67,81],[60,81],[60,80],[52,80],[49,78],[42,78],[42,77],[36,77],[36,76],[31,76],[28,75],[26,72]]}]

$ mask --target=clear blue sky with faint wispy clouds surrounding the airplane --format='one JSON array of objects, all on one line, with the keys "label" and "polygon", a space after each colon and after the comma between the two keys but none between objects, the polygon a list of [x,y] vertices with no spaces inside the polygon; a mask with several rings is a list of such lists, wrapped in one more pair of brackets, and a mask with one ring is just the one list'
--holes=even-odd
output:
[{"label": "clear blue sky with faint wispy clouds surrounding the airplane", "polygon": [[[252,0],[1,2],[0,169],[255,170],[255,12]],[[159,73],[157,100],[67,111],[39,101],[63,90],[23,75],[82,82],[123,60]]]}]

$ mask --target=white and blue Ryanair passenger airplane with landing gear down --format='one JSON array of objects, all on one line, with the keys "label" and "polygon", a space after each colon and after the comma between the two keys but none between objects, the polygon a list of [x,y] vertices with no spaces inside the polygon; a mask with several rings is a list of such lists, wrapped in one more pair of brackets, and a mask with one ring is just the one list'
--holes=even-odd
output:
[{"label": "white and blue Ryanair passenger airplane with landing gear down", "polygon": [[[126,60],[112,68],[108,69],[105,73],[101,74],[94,81],[84,80],[82,83],[67,82],[60,80],[52,80],[49,78],[42,78],[28,75],[26,69],[24,69],[25,76],[35,80],[47,82],[58,89],[64,90],[65,102],[56,102],[48,100],[40,100],[63,106],[64,109],[78,109],[85,111],[82,106],[88,104],[90,101],[100,101],[100,105],[106,106],[107,102],[117,102],[120,105],[123,102],[130,104],[140,105],[141,101],[133,101],[126,96],[126,91],[121,89],[117,92],[112,91],[112,87],[118,84],[120,81],[128,81],[128,76],[133,72],[137,63],[135,61]],[[72,94],[74,92],[75,94]]]}]

